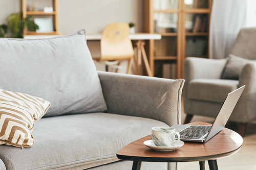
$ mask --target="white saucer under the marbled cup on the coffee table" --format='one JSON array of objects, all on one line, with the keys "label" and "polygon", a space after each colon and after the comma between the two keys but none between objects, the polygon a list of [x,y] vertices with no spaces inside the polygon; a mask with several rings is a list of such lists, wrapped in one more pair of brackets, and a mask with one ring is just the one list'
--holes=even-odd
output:
[{"label": "white saucer under the marbled cup on the coffee table", "polygon": [[180,148],[183,146],[184,142],[179,140],[177,142],[174,143],[174,146],[169,146],[169,147],[157,147],[155,145],[155,143],[153,142],[153,140],[146,140],[143,142],[148,148],[151,148],[153,150],[157,150],[157,151],[173,151],[177,148]]}]

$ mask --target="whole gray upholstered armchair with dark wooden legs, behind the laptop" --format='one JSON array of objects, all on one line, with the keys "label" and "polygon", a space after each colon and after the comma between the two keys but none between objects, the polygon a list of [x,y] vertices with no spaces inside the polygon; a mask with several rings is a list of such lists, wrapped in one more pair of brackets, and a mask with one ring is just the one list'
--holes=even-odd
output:
[{"label": "whole gray upholstered armchair with dark wooden legs, behind the laptop", "polygon": [[241,29],[229,57],[187,57],[184,63],[185,123],[193,115],[216,117],[227,93],[246,85],[229,120],[239,123],[244,136],[248,122],[256,119],[256,28]]}]

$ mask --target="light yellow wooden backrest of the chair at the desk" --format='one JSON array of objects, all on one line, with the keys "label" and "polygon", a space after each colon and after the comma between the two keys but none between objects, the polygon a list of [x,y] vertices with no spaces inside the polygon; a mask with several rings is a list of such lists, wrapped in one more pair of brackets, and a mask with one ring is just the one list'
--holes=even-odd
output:
[{"label": "light yellow wooden backrest of the chair at the desk", "polygon": [[129,59],[134,56],[130,28],[127,23],[115,22],[106,25],[101,34],[100,60]]}]

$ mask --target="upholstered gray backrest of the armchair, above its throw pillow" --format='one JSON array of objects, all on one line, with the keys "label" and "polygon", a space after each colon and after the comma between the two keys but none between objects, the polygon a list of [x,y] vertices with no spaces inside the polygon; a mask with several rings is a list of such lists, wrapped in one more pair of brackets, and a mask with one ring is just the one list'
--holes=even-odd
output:
[{"label": "upholstered gray backrest of the armchair, above its throw pillow", "polygon": [[241,29],[230,54],[238,57],[256,59],[256,28]]}]

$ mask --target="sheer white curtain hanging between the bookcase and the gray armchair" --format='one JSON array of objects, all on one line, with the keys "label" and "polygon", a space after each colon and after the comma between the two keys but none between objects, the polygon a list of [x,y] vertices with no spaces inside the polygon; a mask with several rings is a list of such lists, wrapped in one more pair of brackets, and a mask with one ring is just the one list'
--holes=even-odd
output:
[{"label": "sheer white curtain hanging between the bookcase and the gray armchair", "polygon": [[209,30],[209,58],[226,58],[246,23],[245,0],[213,0]]}]

